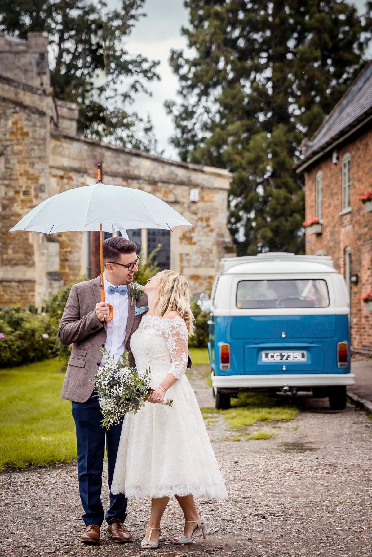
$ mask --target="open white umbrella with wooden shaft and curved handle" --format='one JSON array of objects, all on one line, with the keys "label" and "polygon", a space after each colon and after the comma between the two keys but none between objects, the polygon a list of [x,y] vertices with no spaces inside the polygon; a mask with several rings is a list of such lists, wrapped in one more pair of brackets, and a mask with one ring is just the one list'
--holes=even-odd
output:
[{"label": "open white umbrella with wooden shaft and curved handle", "polygon": [[[193,226],[173,207],[151,193],[118,185],[86,185],[58,193],[31,209],[9,232],[17,230],[44,232],[99,231],[101,258],[101,300],[103,289],[102,231],[122,232],[131,228],[163,228]],[[107,321],[112,319],[112,307]]]}]

